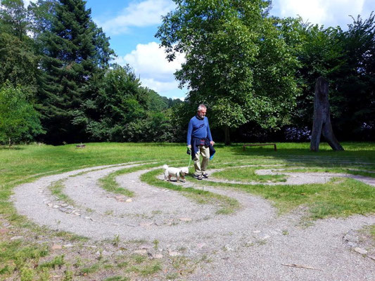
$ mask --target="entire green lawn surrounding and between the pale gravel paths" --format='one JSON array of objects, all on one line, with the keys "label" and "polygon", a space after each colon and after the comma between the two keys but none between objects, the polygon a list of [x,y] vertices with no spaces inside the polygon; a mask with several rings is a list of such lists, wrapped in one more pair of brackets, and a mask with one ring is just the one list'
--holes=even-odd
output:
[{"label": "entire green lawn surrounding and between the pale gravel paths", "polygon": [[[334,152],[328,145],[322,144],[319,152],[310,152],[309,143],[277,143],[277,152],[272,147],[248,147],[242,145],[216,145],[217,154],[210,169],[222,169],[214,174],[217,178],[243,181],[243,184],[213,183],[203,181],[202,184],[222,188],[234,188],[260,195],[270,200],[281,212],[291,211],[295,207],[305,206],[311,219],[327,216],[350,216],[352,214],[374,214],[375,187],[371,187],[350,178],[334,178],[325,184],[310,185],[263,185],[267,182],[285,181],[285,176],[258,176],[256,169],[262,167],[246,165],[283,165],[269,169],[297,171],[326,171],[332,173],[350,173],[374,177],[375,144],[374,143],[342,143],[345,151]],[[143,166],[116,171],[102,178],[100,185],[109,192],[132,196],[129,190],[119,188],[115,177],[137,169],[170,164],[171,166],[187,166],[189,156],[184,144],[165,143],[87,143],[86,148],[78,149],[75,145],[18,145],[11,149],[0,147],[0,280],[51,280],[60,276],[60,280],[132,280],[134,276],[147,279],[168,268],[168,264],[177,264],[177,258],[163,261],[150,261],[143,256],[132,254],[119,256],[109,261],[101,255],[108,247],[119,247],[116,237],[113,241],[102,242],[99,256],[80,258],[76,251],[58,255],[51,249],[58,241],[70,241],[78,244],[87,242],[83,237],[70,233],[57,233],[35,226],[23,216],[19,216],[11,202],[12,190],[16,185],[35,181],[41,176],[61,174],[64,171],[82,169],[89,166],[120,164],[126,162],[144,162]],[[185,196],[202,204],[218,204],[219,214],[230,215],[240,206],[236,200],[223,197],[204,190],[181,188],[156,178],[160,170],[153,170],[141,177],[151,185],[170,188],[182,192]],[[191,179],[191,181],[193,181]],[[246,181],[258,181],[258,185],[248,185]],[[63,194],[63,182],[51,184],[51,192],[61,200],[68,201]],[[11,225],[12,228],[8,228]],[[8,232],[7,229],[11,229]],[[3,231],[3,232],[1,232]],[[374,227],[371,235],[374,237]],[[11,240],[18,235],[32,237],[30,240]],[[43,239],[42,239],[42,238]],[[42,243],[38,241],[44,241]],[[139,242],[141,243],[141,242]],[[90,254],[90,253],[89,253]],[[87,254],[87,256],[90,256]],[[172,258],[171,258],[172,259]],[[179,261],[178,264],[182,262]],[[184,261],[185,268],[193,268],[196,261]],[[184,271],[176,266],[168,271],[167,276],[174,276]],[[174,271],[173,271],[174,270]],[[123,273],[119,275],[118,273]],[[113,274],[112,274],[113,273]],[[112,274],[112,275],[111,275]],[[125,276],[124,276],[125,275]],[[111,277],[112,276],[112,277]]]}]

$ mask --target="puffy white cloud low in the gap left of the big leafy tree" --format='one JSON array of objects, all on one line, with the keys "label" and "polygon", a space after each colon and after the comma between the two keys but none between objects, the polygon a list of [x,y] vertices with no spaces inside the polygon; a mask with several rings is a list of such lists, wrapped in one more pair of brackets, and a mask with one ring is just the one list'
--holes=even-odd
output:
[{"label": "puffy white cloud low in the gap left of the big leafy tree", "polygon": [[136,49],[114,60],[119,65],[129,64],[140,77],[142,86],[170,96],[170,91],[177,89],[179,82],[174,79],[174,72],[184,63],[184,54],[178,53],[171,63],[165,58],[165,49],[155,42],[138,44]]}]

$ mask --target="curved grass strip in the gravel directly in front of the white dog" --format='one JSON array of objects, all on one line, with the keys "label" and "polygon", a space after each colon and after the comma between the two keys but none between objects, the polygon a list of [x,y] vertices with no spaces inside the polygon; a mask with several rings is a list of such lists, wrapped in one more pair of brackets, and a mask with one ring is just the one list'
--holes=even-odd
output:
[{"label": "curved grass strip in the gravel directly in front of the white dog", "polygon": [[214,204],[219,206],[217,214],[232,214],[236,209],[239,209],[240,204],[234,198],[224,195],[209,192],[207,190],[200,190],[196,188],[184,188],[183,185],[174,185],[168,181],[163,181],[157,178],[163,174],[163,169],[155,169],[141,175],[141,181],[145,181],[149,185],[157,186],[158,188],[167,188],[174,191],[179,191],[182,195],[198,202],[198,204]]}]

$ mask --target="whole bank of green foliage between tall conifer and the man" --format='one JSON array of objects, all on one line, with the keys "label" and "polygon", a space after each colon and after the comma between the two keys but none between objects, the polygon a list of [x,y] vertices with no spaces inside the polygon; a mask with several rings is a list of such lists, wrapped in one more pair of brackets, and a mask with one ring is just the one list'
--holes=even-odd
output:
[{"label": "whole bank of green foliage between tall conifer and the man", "polygon": [[170,118],[160,112],[166,110],[166,101],[141,87],[129,66],[113,65],[93,87],[98,95],[84,100],[73,120],[85,127],[91,140],[174,141]]}]

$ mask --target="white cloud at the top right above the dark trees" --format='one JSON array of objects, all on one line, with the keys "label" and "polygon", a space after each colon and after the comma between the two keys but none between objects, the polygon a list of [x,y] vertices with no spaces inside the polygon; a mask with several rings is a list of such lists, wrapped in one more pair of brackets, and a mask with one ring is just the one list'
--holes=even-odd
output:
[{"label": "white cloud at the top right above the dark trees", "polygon": [[374,0],[278,0],[274,1],[274,8],[282,18],[300,15],[312,24],[344,27],[352,21],[349,15],[355,18],[359,14],[364,18],[368,16],[364,14],[367,13],[364,11],[366,1]]}]

